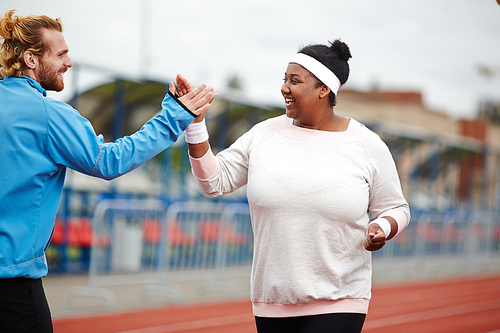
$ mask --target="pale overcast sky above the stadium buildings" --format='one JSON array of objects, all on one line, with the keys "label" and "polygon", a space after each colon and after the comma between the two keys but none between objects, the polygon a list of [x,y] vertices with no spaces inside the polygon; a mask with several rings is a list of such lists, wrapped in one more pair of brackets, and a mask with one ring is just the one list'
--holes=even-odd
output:
[{"label": "pale overcast sky above the stadium buildings", "polygon": [[180,73],[221,94],[237,75],[246,99],[280,106],[299,47],[341,39],[352,53],[345,88],[421,92],[426,107],[453,118],[475,117],[481,100],[500,102],[497,0],[0,1],[2,14],[10,9],[62,19],[81,68],[50,94],[64,101],[117,75]]}]

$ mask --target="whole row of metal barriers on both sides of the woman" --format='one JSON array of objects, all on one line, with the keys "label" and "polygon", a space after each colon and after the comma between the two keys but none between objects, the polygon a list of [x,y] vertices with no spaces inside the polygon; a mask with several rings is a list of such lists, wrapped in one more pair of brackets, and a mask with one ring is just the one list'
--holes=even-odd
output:
[{"label": "whole row of metal barriers on both sides of the woman", "polygon": [[[373,252],[374,260],[483,255],[500,255],[498,212],[413,211],[409,227]],[[66,301],[100,297],[113,307],[109,287],[136,285],[141,299],[179,302],[186,290],[178,282],[188,280],[198,282],[198,295],[231,295],[230,278],[248,275],[252,257],[246,203],[103,200],[93,217],[89,285],[70,289]]]}]

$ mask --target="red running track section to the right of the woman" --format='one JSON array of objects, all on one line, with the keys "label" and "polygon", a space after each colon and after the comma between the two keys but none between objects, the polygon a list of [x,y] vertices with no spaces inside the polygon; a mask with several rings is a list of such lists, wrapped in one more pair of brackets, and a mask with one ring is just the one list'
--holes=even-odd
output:
[{"label": "red running track section to the right of the woman", "polygon": [[366,333],[493,332],[500,276],[374,288]]}]

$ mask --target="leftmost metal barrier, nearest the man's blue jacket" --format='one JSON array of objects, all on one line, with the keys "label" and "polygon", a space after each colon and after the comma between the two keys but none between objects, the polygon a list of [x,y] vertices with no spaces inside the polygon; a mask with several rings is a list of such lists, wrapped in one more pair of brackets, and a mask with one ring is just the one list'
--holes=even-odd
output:
[{"label": "leftmost metal barrier, nearest the man's blue jacket", "polygon": [[[161,280],[161,271],[153,267],[155,262],[163,262],[164,251],[158,248],[156,261],[151,260],[153,249],[148,243],[155,237],[161,239],[166,232],[166,211],[166,205],[158,200],[100,201],[92,221],[89,285],[68,290],[66,303],[71,306],[76,297],[98,297],[104,298],[108,307],[114,307],[116,297],[104,287],[149,285]],[[159,228],[149,230],[151,223],[159,223]],[[159,247],[164,248],[165,242],[160,242]],[[178,291],[169,289],[168,293],[180,299]]]}]

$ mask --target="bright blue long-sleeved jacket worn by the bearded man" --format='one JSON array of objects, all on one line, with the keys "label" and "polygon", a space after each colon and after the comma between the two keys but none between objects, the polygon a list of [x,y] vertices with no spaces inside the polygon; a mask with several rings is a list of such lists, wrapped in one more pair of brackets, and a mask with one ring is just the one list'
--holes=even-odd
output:
[{"label": "bright blue long-sleeved jacket worn by the bearded man", "polygon": [[26,76],[0,81],[0,278],[47,275],[66,168],[113,179],[172,145],[194,119],[168,93],[143,128],[104,143],[74,108]]}]

